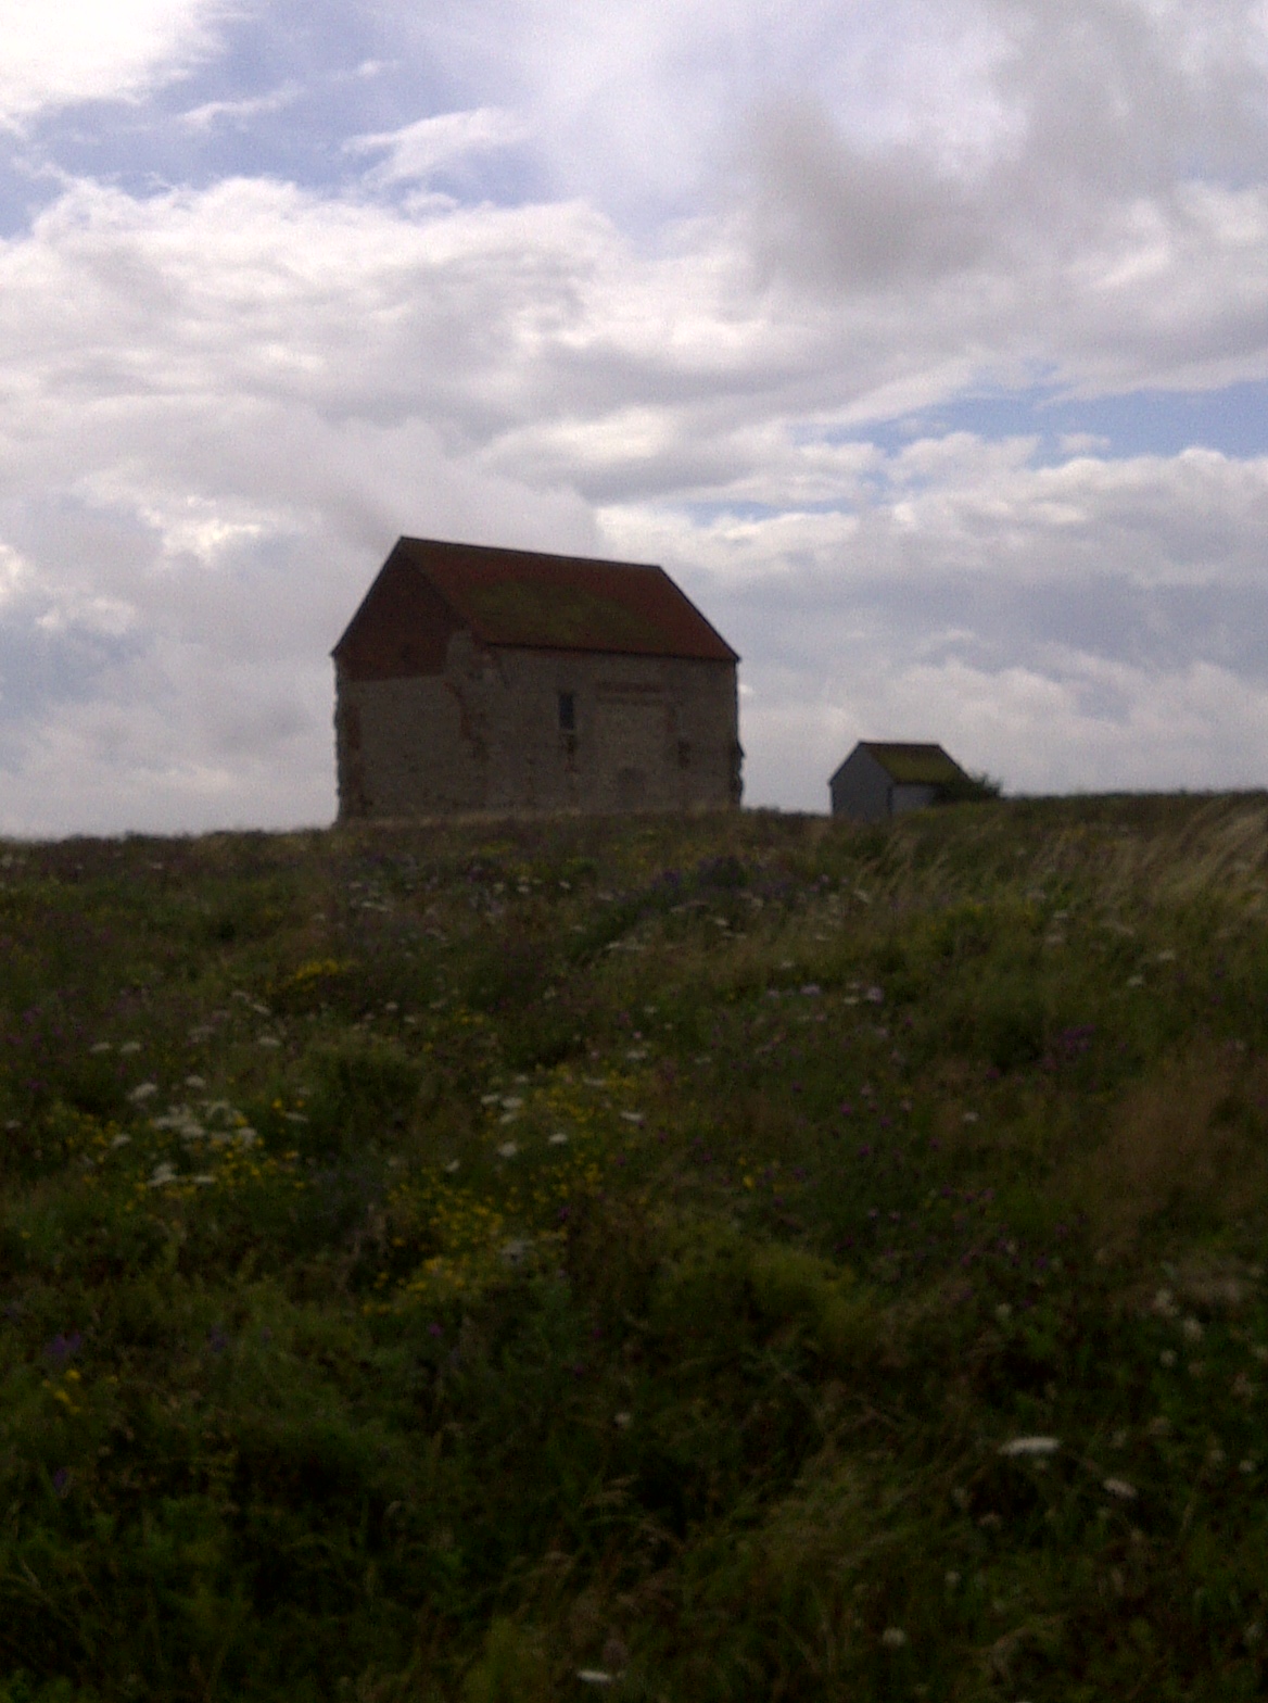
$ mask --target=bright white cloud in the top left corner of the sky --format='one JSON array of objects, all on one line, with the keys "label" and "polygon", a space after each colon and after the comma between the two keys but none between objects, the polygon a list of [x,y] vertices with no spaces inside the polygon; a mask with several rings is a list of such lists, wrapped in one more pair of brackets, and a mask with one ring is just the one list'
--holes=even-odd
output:
[{"label": "bright white cloud in the top left corner of the sky", "polygon": [[0,0],[0,124],[82,100],[136,100],[204,58],[223,0]]}]

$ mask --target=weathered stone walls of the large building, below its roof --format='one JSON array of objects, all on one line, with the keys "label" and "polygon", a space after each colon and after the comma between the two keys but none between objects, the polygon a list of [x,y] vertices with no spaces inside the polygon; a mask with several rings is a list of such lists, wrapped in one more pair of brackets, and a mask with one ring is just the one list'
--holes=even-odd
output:
[{"label": "weathered stone walls of the large building, below its roof", "polygon": [[340,819],[739,804],[732,662],[482,649],[458,632],[439,673],[340,674],[335,690]]}]

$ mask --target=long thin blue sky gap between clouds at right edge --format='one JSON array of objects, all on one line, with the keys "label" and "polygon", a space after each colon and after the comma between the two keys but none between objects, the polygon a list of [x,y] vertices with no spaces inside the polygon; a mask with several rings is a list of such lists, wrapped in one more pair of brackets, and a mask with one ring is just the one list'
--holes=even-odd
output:
[{"label": "long thin blue sky gap between clouds at right edge", "polygon": [[1259,456],[1268,453],[1268,380],[1244,380],[1220,390],[1134,390],[1108,397],[1071,397],[1054,385],[1033,385],[967,393],[933,409],[815,436],[827,443],[873,443],[899,455],[919,438],[960,431],[987,441],[1035,438],[1035,465],[1065,462],[1081,446],[1115,460],[1169,456],[1190,448]]}]

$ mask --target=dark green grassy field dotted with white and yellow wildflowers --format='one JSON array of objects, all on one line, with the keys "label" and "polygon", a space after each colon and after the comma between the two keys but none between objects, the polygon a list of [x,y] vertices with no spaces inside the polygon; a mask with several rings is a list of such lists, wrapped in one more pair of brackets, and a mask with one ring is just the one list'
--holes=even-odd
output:
[{"label": "dark green grassy field dotted with white and yellow wildflowers", "polygon": [[1268,800],[0,846],[0,1703],[1268,1688]]}]

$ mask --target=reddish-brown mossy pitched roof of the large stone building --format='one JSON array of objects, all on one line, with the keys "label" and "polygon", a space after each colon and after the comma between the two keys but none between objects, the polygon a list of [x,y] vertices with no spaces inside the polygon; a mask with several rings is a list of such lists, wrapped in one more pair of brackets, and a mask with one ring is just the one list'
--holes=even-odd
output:
[{"label": "reddish-brown mossy pitched roof of the large stone building", "polygon": [[398,639],[402,598],[388,598],[380,588],[386,591],[402,577],[431,586],[458,623],[487,645],[739,661],[660,567],[432,538],[397,542],[335,645],[335,657],[351,649],[373,651],[380,623],[391,625],[393,642]]}]

